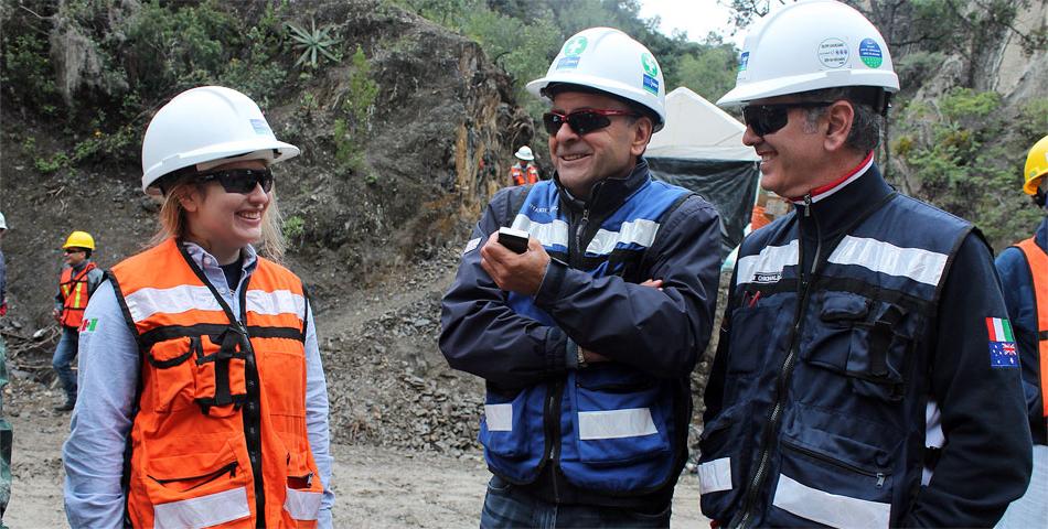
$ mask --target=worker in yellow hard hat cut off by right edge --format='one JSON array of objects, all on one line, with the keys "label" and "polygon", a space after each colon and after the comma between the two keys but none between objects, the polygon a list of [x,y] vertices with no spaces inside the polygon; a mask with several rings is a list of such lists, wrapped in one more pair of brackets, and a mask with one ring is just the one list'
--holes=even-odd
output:
[{"label": "worker in yellow hard hat cut off by right edge", "polygon": [[[1048,192],[1048,136],[1034,143],[1023,176],[1023,191],[1044,208]],[[1041,218],[1033,237],[1005,248],[995,263],[1023,364],[1023,388],[1034,439],[1029,488],[1008,507],[997,527],[1039,527],[1048,520],[1048,215]]]}]

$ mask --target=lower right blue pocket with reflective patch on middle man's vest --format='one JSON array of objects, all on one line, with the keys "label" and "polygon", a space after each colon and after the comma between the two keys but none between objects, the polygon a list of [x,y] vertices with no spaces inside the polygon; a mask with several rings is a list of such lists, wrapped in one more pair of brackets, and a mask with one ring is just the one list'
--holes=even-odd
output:
[{"label": "lower right blue pocket with reflective patch on middle man's vest", "polygon": [[579,370],[575,382],[579,462],[611,466],[670,452],[671,412],[663,407],[671,399],[655,379],[610,365]]}]

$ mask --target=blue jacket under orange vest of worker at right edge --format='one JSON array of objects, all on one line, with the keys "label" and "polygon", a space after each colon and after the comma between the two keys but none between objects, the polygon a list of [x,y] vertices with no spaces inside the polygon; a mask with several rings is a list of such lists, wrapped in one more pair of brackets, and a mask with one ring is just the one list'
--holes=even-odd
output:
[{"label": "blue jacket under orange vest of worker at right edge", "polygon": [[[1034,241],[1048,251],[1048,217],[1040,222]],[[1034,295],[1034,278],[1023,250],[1005,248],[996,260],[1001,273],[1004,303],[1015,332],[1015,341],[1023,361],[1023,389],[1026,392],[1027,415],[1034,444],[1048,444],[1048,422],[1045,421],[1042,391],[1040,387],[1040,353],[1038,350],[1037,304]],[[1046,301],[1048,302],[1048,301]]]}]

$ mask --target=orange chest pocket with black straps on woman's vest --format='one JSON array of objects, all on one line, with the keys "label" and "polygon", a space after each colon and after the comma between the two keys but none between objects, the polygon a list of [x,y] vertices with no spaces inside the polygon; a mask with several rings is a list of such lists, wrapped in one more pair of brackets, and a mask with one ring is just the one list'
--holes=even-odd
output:
[{"label": "orange chest pocket with black straps on woman's vest", "polygon": [[170,413],[197,406],[206,415],[228,417],[246,398],[246,337],[189,336],[158,343],[147,353],[153,409]]}]

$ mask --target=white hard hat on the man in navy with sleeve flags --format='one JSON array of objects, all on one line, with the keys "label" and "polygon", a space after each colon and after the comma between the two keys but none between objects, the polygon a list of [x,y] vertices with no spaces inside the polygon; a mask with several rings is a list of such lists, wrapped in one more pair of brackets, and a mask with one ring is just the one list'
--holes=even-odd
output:
[{"label": "white hard hat on the man in navy with sleeve flags", "polygon": [[899,91],[888,44],[862,13],[834,0],[791,3],[760,19],[742,43],[735,88],[717,105],[845,86]]}]

